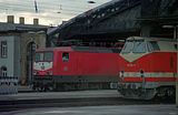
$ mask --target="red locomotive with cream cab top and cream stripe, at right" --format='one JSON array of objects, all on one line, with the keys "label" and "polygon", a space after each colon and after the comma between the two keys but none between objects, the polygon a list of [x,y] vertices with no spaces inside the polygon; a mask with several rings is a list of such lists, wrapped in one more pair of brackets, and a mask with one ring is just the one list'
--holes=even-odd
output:
[{"label": "red locomotive with cream cab top and cream stripe, at right", "polygon": [[120,52],[118,91],[126,98],[175,97],[177,41],[129,38]]}]

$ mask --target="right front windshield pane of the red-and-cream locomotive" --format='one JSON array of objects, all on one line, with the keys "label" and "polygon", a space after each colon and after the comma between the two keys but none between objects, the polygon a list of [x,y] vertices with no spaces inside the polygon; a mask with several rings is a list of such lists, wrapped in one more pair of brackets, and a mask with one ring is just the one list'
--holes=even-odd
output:
[{"label": "right front windshield pane of the red-and-cream locomotive", "polygon": [[132,49],[134,53],[145,53],[146,52],[146,43],[144,41],[135,41],[135,46]]}]

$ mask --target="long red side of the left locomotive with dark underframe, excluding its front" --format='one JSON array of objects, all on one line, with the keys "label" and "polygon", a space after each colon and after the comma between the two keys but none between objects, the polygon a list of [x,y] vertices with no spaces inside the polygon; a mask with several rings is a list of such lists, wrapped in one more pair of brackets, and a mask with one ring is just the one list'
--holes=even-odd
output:
[{"label": "long red side of the left locomotive with dark underframe, excluding its front", "polygon": [[[41,88],[110,88],[110,83],[118,81],[118,53],[107,49],[58,48],[53,49],[52,74],[39,74],[36,77],[42,77],[39,81],[43,85]],[[48,85],[44,82],[47,79]]]}]

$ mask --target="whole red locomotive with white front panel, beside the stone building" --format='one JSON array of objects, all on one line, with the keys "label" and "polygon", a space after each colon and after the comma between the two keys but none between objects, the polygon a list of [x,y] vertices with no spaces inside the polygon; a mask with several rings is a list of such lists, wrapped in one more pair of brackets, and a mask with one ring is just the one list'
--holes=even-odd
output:
[{"label": "whole red locomotive with white front panel, beside the stone building", "polygon": [[47,48],[36,51],[33,88],[109,88],[118,82],[119,50],[91,46]]}]

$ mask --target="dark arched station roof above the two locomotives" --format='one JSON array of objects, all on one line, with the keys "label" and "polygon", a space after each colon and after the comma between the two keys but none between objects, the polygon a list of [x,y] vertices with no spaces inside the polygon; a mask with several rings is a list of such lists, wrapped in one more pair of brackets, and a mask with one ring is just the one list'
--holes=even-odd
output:
[{"label": "dark arched station roof above the two locomotives", "polygon": [[177,0],[115,0],[58,27],[48,34],[48,45],[78,40],[116,42],[130,35],[174,38],[177,6]]}]

